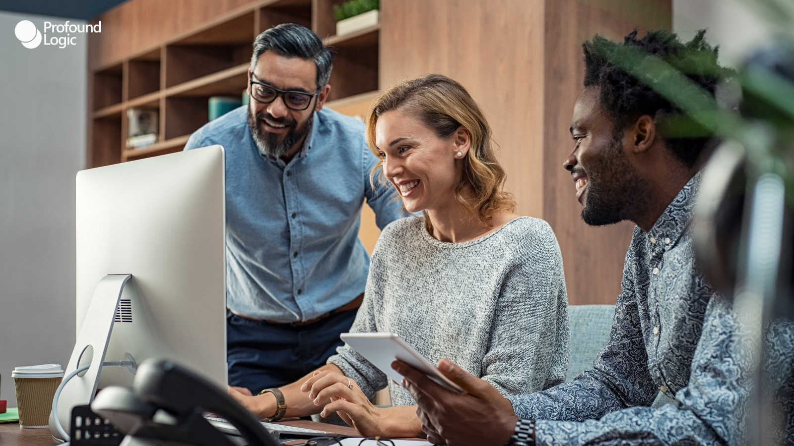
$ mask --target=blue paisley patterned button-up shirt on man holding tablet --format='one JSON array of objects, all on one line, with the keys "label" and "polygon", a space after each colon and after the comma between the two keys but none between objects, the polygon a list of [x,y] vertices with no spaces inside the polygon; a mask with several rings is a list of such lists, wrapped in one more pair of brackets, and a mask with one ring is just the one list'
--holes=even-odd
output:
[{"label": "blue paisley patterned button-up shirt on man holding tablet", "polygon": [[[649,233],[634,229],[615,321],[593,370],[510,398],[519,417],[538,420],[538,444],[743,443],[749,359],[737,347],[742,342],[730,304],[696,270],[686,231],[699,183],[700,174]],[[794,329],[784,327],[773,336],[769,357],[778,359],[782,378],[774,389],[790,416]],[[676,405],[648,407],[660,391]],[[788,436],[794,440],[791,428]]]}]

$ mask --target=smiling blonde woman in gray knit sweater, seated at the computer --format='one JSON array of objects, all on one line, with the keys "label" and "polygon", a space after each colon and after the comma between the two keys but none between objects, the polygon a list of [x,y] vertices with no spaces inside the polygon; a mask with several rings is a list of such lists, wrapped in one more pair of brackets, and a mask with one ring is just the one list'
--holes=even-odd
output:
[{"label": "smiling blonde woman in gray knit sweater, seated at the computer", "polygon": [[[569,328],[560,249],[545,221],[514,213],[480,107],[443,75],[399,83],[376,98],[367,140],[380,157],[373,181],[423,217],[384,229],[351,332],[399,333],[430,361],[452,359],[505,395],[561,383]],[[373,406],[387,385],[394,406]],[[287,417],[337,412],[361,436],[422,435],[410,393],[348,345],[279,390]],[[229,391],[260,417],[278,412],[272,393]]]}]

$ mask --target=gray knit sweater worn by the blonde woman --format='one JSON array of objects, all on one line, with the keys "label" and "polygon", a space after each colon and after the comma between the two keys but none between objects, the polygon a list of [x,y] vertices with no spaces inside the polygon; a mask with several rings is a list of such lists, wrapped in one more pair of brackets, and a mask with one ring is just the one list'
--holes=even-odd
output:
[{"label": "gray knit sweater worn by the blonde woman", "polygon": [[[568,298],[557,239],[532,217],[463,243],[435,240],[420,217],[393,221],[372,252],[350,331],[398,333],[431,363],[449,358],[506,396],[562,383]],[[391,404],[416,404],[347,344],[328,362],[368,396],[388,384]]]}]

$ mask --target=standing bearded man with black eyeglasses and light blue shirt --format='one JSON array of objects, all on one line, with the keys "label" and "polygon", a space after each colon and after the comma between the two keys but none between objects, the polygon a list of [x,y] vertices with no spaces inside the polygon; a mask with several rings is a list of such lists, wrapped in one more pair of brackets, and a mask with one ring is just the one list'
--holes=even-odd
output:
[{"label": "standing bearded man with black eyeglasses and light blue shirt", "polygon": [[323,108],[331,67],[310,29],[268,29],[253,44],[249,105],[185,146],[225,148],[229,385],[245,394],[278,399],[326,363],[364,296],[364,199],[380,229],[401,217],[394,192],[369,181],[364,125]]}]

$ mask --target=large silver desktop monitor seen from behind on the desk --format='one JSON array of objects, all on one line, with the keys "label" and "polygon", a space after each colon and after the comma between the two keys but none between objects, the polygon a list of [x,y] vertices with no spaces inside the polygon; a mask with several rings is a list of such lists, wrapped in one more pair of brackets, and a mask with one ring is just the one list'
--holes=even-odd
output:
[{"label": "large silver desktop monitor seen from behind on the desk", "polygon": [[[109,318],[91,316],[98,284],[132,275],[120,296],[106,299],[118,306],[105,310],[116,309],[114,321],[99,321],[110,333],[104,361],[174,359],[225,389],[224,177],[219,145],[77,174],[78,344],[83,325]],[[102,359],[90,356],[101,354],[102,336],[72,352],[67,374],[87,363],[94,377],[101,371],[95,381],[90,368],[64,386],[57,412],[66,432],[71,407],[88,404],[96,388],[133,383],[127,367],[94,367]]]}]

